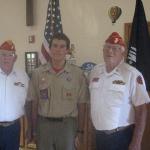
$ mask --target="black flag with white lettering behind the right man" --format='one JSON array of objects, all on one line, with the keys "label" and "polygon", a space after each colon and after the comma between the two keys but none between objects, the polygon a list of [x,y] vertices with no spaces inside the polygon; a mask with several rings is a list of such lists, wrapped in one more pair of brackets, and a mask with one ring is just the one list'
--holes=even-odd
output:
[{"label": "black flag with white lettering behind the right man", "polygon": [[150,36],[141,0],[136,0],[127,63],[137,68],[143,74],[146,89],[150,91]]}]

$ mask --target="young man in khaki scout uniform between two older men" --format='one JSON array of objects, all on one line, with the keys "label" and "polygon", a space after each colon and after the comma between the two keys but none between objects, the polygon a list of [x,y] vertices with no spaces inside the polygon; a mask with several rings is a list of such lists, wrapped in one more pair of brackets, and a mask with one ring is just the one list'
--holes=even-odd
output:
[{"label": "young man in khaki scout uniform between two older men", "polygon": [[36,69],[30,81],[28,138],[36,135],[38,150],[74,150],[83,137],[88,87],[80,68],[65,61],[69,47],[65,34],[55,34],[50,42],[51,62]]}]

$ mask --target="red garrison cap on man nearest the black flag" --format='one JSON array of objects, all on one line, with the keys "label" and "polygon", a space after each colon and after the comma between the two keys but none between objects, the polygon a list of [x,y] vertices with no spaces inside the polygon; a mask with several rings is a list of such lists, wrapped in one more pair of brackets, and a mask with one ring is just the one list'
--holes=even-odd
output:
[{"label": "red garrison cap on man nearest the black flag", "polygon": [[117,44],[125,47],[125,43],[122,37],[117,32],[113,32],[105,42],[110,44]]}]

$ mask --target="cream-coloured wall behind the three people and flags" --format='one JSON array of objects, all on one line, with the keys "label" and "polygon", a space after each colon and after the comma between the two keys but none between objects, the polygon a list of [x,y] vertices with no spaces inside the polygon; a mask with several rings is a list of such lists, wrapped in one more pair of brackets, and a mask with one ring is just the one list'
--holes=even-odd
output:
[{"label": "cream-coloured wall behind the three people and flags", "polygon": [[[24,52],[39,51],[43,40],[48,0],[34,0],[34,26],[26,26],[26,0],[0,0],[0,43],[12,39],[16,45],[16,66],[24,69]],[[150,21],[150,1],[143,0]],[[122,15],[112,25],[108,17],[111,6],[122,8]],[[135,0],[60,0],[64,32],[75,44],[77,64],[102,62],[102,46],[107,36],[118,31],[124,36],[124,23],[132,22]],[[35,43],[28,36],[35,35]]]}]

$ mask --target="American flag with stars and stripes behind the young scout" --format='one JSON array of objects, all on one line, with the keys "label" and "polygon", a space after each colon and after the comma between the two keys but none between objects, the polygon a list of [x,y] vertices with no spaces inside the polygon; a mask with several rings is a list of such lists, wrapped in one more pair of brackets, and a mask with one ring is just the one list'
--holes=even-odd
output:
[{"label": "American flag with stars and stripes behind the young scout", "polygon": [[44,30],[44,40],[39,54],[41,64],[50,60],[49,42],[54,33],[62,33],[62,23],[60,15],[59,0],[49,0],[47,8],[47,17]]}]

